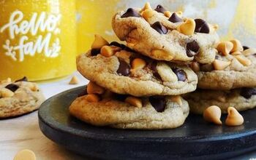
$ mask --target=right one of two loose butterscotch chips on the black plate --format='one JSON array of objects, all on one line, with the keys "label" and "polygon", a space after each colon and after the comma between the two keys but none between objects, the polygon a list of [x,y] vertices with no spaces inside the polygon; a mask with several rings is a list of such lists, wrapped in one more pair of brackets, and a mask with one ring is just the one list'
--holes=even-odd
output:
[{"label": "right one of two loose butterscotch chips on the black plate", "polygon": [[227,119],[225,124],[227,126],[240,126],[244,123],[244,117],[236,110],[236,108],[227,108]]}]

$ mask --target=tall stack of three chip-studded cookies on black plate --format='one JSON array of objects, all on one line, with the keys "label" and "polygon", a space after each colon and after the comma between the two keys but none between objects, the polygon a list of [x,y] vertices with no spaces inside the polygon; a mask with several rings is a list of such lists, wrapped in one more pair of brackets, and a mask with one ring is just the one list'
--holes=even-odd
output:
[{"label": "tall stack of three chip-studded cookies on black plate", "polygon": [[181,126],[189,105],[180,95],[197,87],[197,75],[187,64],[214,61],[217,26],[148,3],[116,13],[112,24],[127,45],[95,36],[89,52],[77,58],[78,71],[90,83],[70,113],[97,126]]}]

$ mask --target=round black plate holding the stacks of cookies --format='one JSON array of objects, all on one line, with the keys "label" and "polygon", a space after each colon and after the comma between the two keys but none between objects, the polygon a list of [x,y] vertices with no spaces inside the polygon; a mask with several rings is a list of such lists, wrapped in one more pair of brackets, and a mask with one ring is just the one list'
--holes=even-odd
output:
[{"label": "round black plate holding the stacks of cookies", "polygon": [[176,129],[94,127],[69,116],[69,104],[83,89],[71,89],[46,100],[39,108],[39,127],[50,140],[86,157],[226,159],[256,149],[256,110],[242,113],[245,122],[240,127],[207,124],[196,115],[189,115]]}]

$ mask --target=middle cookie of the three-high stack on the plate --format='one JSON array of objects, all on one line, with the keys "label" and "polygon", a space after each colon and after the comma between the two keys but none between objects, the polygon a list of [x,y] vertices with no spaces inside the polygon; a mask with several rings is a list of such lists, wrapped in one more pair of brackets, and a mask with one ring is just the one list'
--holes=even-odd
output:
[{"label": "middle cookie of the three-high stack on the plate", "polygon": [[[184,65],[151,60],[113,42],[99,45],[77,57],[78,71],[99,86],[134,96],[181,95],[196,89],[197,75]],[[94,47],[97,43],[97,49]]]}]

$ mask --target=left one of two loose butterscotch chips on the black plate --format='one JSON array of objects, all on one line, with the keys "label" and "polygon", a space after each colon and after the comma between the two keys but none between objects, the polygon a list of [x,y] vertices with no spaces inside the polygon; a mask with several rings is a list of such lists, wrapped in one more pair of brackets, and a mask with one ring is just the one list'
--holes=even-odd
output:
[{"label": "left one of two loose butterscotch chips on the black plate", "polygon": [[214,124],[222,124],[222,121],[220,121],[221,116],[222,111],[217,105],[212,105],[203,111],[203,119]]}]

